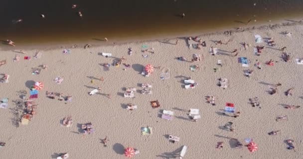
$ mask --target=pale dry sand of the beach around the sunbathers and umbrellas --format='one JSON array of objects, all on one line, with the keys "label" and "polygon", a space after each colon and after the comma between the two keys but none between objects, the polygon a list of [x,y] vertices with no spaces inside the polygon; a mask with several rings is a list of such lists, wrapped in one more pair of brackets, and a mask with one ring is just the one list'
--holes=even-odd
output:
[{"label": "pale dry sand of the beach around the sunbathers and umbrellas", "polygon": [[[189,48],[187,40],[176,39],[126,43],[108,46],[78,48],[40,49],[41,57],[34,59],[36,48],[23,50],[27,55],[10,50],[0,51],[0,60],[7,64],[0,66],[0,78],[8,74],[9,82],[0,83],[0,99],[9,98],[8,108],[0,108],[0,142],[6,145],[0,148],[1,159],[52,159],[60,153],[68,153],[70,159],[125,159],[124,148],[133,147],[140,150],[135,159],[173,159],[182,146],[188,147],[183,159],[302,159],[302,107],[286,109],[286,105],[301,105],[303,65],[297,65],[296,59],[303,58],[303,25],[276,27],[260,27],[243,32],[207,34],[200,36],[206,42],[201,50]],[[285,36],[282,32],[289,32]],[[254,35],[263,38],[272,37],[276,46],[268,46],[266,42],[256,43]],[[190,35],[189,35],[190,36]],[[214,41],[227,45],[216,45]],[[13,40],[13,39],[11,39]],[[250,46],[245,50],[240,43]],[[111,40],[108,41],[111,44]],[[260,56],[254,54],[254,46],[265,46]],[[6,48],[7,46],[5,46]],[[128,55],[128,48],[133,49]],[[153,48],[154,53],[142,52],[142,48]],[[209,53],[211,47],[218,48],[218,55]],[[283,51],[291,59],[284,62]],[[68,54],[63,54],[69,49]],[[234,49],[238,55],[231,56]],[[101,56],[111,53],[112,57]],[[15,55],[19,62],[13,62]],[[185,57],[190,61],[193,54],[203,56],[200,62],[178,61],[177,57]],[[148,55],[148,57],[144,57]],[[24,60],[31,56],[31,60]],[[107,71],[104,63],[112,64],[114,60],[125,57],[122,63],[131,65],[127,68],[110,66]],[[249,67],[242,67],[238,58],[246,57]],[[269,60],[274,66],[266,65]],[[222,67],[217,61],[222,61]],[[254,66],[260,62],[262,69]],[[158,67],[150,75],[141,75],[144,67],[151,64]],[[32,75],[32,68],[47,65],[39,75]],[[199,65],[198,70],[191,72],[190,66]],[[214,72],[214,68],[217,69]],[[250,78],[244,75],[245,70],[253,70]],[[161,73],[169,73],[169,79],[160,79]],[[54,79],[63,77],[61,84]],[[100,78],[104,78],[101,81]],[[191,77],[198,85],[185,89],[184,78]],[[229,85],[226,89],[217,85],[218,79],[226,78]],[[93,81],[91,81],[93,80]],[[35,103],[36,112],[28,125],[21,125],[17,120],[16,105],[13,101],[21,100],[20,90],[25,90],[29,97],[30,87],[34,81],[44,83]],[[142,94],[141,84],[152,84],[152,94]],[[268,90],[274,84],[282,83],[277,93],[270,95]],[[88,93],[101,87],[94,94]],[[135,98],[124,97],[125,89],[135,87]],[[294,87],[293,95],[286,96],[285,91]],[[46,91],[72,95],[70,102],[46,97]],[[111,98],[107,96],[111,95]],[[206,102],[205,96],[216,96],[216,105]],[[250,98],[259,97],[260,106],[252,107]],[[160,107],[152,108],[151,101],[158,100]],[[222,115],[225,103],[234,103],[235,110],[240,111],[237,118]],[[125,109],[126,104],[138,105],[138,109]],[[201,119],[196,122],[188,120],[188,115],[180,109],[197,108]],[[171,121],[161,119],[162,110],[174,112]],[[21,115],[22,113],[19,113]],[[60,121],[71,115],[73,124],[64,127]],[[276,121],[279,115],[287,115],[287,121]],[[96,130],[90,135],[83,135],[81,125],[91,122]],[[227,122],[233,122],[234,132],[222,129]],[[144,136],[141,128],[150,126],[152,135]],[[278,135],[270,136],[269,132],[281,130]],[[180,138],[171,143],[167,136]],[[108,146],[104,147],[101,139],[108,137]],[[246,138],[252,138],[258,145],[254,153],[247,147],[237,149],[231,138],[238,139],[243,145]],[[294,140],[294,150],[288,150],[285,140]],[[217,142],[224,142],[223,149],[216,149]]]}]

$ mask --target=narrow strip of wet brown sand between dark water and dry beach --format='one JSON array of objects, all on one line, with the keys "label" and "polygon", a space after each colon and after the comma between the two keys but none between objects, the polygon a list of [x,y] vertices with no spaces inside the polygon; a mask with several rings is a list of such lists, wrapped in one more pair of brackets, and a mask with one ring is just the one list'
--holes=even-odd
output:
[{"label": "narrow strip of wet brown sand between dark water and dry beach", "polygon": [[[47,43],[37,43],[37,44],[16,44],[16,47],[11,47],[2,43],[2,47],[0,50],[55,50],[55,49],[72,49],[72,46],[77,45],[77,48],[84,48],[86,44],[91,44],[92,47],[101,47],[101,46],[116,46],[116,45],[125,45],[125,44],[138,44],[138,43],[146,43],[146,42],[155,42],[155,41],[168,41],[174,39],[182,39],[185,37],[203,37],[210,35],[220,35],[225,34],[226,31],[231,31],[232,33],[244,32],[244,31],[253,31],[253,30],[261,30],[261,29],[275,29],[282,26],[293,26],[293,25],[303,25],[302,18],[293,17],[292,20],[278,19],[267,22],[257,22],[252,24],[242,24],[244,27],[231,27],[225,26],[218,29],[206,29],[204,31],[193,31],[188,33],[180,33],[174,35],[161,35],[161,36],[146,36],[143,38],[125,38],[120,40],[109,39],[109,41],[105,41],[104,39],[96,39],[92,38],[91,40],[87,39],[87,41],[73,41],[67,40],[63,44],[58,42],[47,42]],[[11,40],[11,39],[10,39]],[[13,40],[12,40],[13,41]]]}]

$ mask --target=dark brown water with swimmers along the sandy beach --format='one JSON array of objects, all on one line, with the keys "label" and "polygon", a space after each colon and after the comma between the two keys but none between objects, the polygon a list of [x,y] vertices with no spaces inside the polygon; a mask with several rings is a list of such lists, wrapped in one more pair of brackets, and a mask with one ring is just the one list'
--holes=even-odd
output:
[{"label": "dark brown water with swimmers along the sandy beach", "polygon": [[[77,7],[72,9],[72,4]],[[0,10],[0,40],[29,44],[146,38],[245,26],[250,19],[254,23],[255,19],[298,15],[303,12],[303,0],[4,0]],[[18,19],[23,21],[15,23]]]}]

